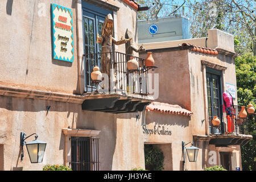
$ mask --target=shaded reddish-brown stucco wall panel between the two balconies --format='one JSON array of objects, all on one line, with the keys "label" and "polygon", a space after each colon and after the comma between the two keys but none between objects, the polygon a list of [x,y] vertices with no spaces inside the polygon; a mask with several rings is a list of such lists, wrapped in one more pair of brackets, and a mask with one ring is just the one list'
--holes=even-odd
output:
[{"label": "shaded reddish-brown stucco wall panel between the two balconies", "polygon": [[[145,53],[140,56],[146,58]],[[180,105],[191,109],[188,50],[153,52],[155,65],[154,74],[159,75],[159,96],[157,102]]]}]

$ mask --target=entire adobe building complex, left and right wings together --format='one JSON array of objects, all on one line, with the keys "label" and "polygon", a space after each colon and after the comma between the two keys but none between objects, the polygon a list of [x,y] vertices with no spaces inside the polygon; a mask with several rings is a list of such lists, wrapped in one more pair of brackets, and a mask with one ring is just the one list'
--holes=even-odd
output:
[{"label": "entire adobe building complex, left and right wings together", "polygon": [[[4,0],[0,9],[0,170],[145,169],[146,144],[161,148],[165,170],[204,169],[212,151],[216,164],[230,154],[230,169],[241,167],[251,135],[240,126],[225,133],[224,117],[210,127],[206,104],[208,71],[220,73],[223,90],[236,85],[231,35],[210,30],[207,46],[205,38],[144,44],[158,68],[146,67],[136,17],[147,7],[135,1]],[[127,69],[131,57],[138,69]],[[46,147],[31,159],[28,144],[38,140]],[[199,148],[196,162],[182,142]]]}]

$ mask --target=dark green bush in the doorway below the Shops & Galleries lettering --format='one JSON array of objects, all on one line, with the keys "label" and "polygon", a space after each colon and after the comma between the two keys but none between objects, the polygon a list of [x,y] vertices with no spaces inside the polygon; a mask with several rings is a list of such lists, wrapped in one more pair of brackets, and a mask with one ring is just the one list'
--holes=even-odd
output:
[{"label": "dark green bush in the doorway below the Shops & Galleries lettering", "polygon": [[152,144],[144,145],[145,166],[150,171],[161,171],[163,168],[164,155],[160,148]]}]

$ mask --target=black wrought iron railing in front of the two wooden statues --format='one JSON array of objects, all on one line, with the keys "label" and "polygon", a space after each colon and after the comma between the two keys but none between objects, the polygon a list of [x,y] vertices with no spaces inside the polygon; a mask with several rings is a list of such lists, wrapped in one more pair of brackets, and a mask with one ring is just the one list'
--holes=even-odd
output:
[{"label": "black wrought iron railing in front of the two wooden statues", "polygon": [[[128,70],[127,61],[131,56],[133,55],[121,52],[85,54],[85,92],[104,94],[120,92],[147,96],[148,71],[156,67],[146,67],[144,59],[134,56],[139,64],[138,69]],[[102,64],[103,59],[105,59],[104,64]],[[100,68],[102,79],[93,81],[90,74],[96,65]]]}]

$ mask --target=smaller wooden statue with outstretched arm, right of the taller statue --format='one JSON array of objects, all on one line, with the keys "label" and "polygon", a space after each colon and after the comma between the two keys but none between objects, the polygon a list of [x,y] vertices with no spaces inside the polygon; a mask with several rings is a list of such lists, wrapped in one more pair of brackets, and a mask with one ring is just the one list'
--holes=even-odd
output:
[{"label": "smaller wooden statue with outstretched arm, right of the taller statue", "polygon": [[132,39],[132,38],[134,38],[134,34],[130,30],[128,30],[128,28],[126,29],[126,32],[125,32],[125,38],[131,39],[130,42],[127,42],[125,44],[126,54],[133,55],[133,51],[135,51],[135,52],[145,52],[146,51],[146,48],[144,48],[143,46],[138,48],[137,44],[134,43],[134,41]]}]

